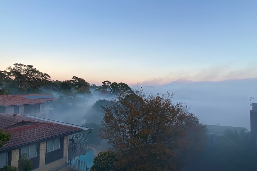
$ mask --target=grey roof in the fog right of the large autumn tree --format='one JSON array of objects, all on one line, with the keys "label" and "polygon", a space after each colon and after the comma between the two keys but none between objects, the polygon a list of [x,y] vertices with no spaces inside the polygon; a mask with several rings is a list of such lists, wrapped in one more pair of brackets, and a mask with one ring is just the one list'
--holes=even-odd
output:
[{"label": "grey roof in the fog right of the large autumn tree", "polygon": [[216,134],[216,135],[225,135],[225,131],[227,129],[230,129],[234,131],[240,131],[241,129],[244,129],[245,132],[249,132],[246,128],[243,127],[235,127],[235,126],[221,126],[221,125],[206,125],[207,128],[207,134]]}]

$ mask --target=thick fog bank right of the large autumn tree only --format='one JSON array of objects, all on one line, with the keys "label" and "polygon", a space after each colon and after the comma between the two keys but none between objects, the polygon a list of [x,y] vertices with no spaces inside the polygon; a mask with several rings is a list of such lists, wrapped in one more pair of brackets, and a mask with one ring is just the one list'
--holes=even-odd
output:
[{"label": "thick fog bank right of the large autumn tree only", "polygon": [[[242,79],[218,82],[173,81],[162,86],[143,86],[144,92],[156,94],[175,92],[173,102],[182,102],[200,122],[210,125],[245,127],[250,130],[249,96],[257,97],[257,79]],[[133,89],[140,87],[134,85]],[[251,99],[251,103],[257,100]]]}]

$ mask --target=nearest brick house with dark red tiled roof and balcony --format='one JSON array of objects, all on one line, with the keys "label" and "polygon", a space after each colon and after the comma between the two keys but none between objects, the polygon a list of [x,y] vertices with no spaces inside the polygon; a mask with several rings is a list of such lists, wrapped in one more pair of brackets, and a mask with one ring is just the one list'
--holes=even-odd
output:
[{"label": "nearest brick house with dark red tiled roof and balcony", "polygon": [[[21,154],[27,153],[27,158],[33,162],[33,171],[66,171],[71,166],[72,157],[88,151],[88,141],[81,137],[90,133],[92,128],[64,124],[0,113],[0,130],[13,133],[0,148],[0,168],[6,164],[18,167]],[[69,143],[69,139],[74,143]]]}]

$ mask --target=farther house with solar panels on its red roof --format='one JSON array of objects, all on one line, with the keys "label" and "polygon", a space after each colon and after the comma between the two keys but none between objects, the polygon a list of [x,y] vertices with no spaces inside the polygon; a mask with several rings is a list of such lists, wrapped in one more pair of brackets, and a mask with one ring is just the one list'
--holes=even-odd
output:
[{"label": "farther house with solar panels on its red roof", "polygon": [[0,95],[0,112],[49,117],[56,99],[50,94]]}]

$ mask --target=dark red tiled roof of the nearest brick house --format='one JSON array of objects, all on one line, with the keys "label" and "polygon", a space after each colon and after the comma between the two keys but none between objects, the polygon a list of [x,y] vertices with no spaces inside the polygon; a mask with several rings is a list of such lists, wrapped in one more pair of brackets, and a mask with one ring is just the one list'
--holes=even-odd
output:
[{"label": "dark red tiled roof of the nearest brick house", "polygon": [[[11,139],[4,144],[3,148],[0,148],[0,151],[8,148],[19,148],[19,146],[28,143],[43,142],[47,138],[65,136],[82,131],[81,128],[35,120],[26,116],[18,115],[18,118],[13,117],[13,119],[11,117],[13,115],[0,113],[0,125],[4,125],[3,122],[8,120],[8,123],[4,126],[6,128],[4,132],[13,132]],[[14,127],[8,128],[10,126]]]}]

